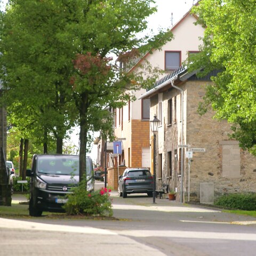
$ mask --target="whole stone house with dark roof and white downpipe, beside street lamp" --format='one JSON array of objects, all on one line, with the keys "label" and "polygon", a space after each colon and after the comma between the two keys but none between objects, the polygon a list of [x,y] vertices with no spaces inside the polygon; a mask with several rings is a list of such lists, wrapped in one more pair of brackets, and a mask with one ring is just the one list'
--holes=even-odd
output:
[{"label": "whole stone house with dark roof and white downpipe, beside street lamp", "polygon": [[169,183],[181,202],[213,203],[221,194],[256,192],[256,157],[229,139],[230,124],[213,119],[213,111],[197,112],[212,75],[197,78],[180,67],[140,97],[150,99],[150,119],[156,114],[161,121],[157,187]]}]

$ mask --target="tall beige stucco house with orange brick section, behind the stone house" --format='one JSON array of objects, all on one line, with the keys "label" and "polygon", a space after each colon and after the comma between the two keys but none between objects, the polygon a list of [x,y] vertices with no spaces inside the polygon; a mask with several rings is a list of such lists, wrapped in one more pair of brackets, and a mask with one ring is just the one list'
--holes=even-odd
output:
[{"label": "tall beige stucco house with orange brick section, behind the stone house", "polygon": [[[180,67],[188,54],[197,52],[198,45],[201,44],[199,38],[203,36],[204,29],[194,25],[196,20],[194,15],[186,13],[171,29],[174,36],[172,41],[163,45],[162,50],[153,49],[152,53],[147,53],[129,72],[140,71],[140,65],[146,61],[150,62],[151,66],[164,70],[163,77]],[[145,92],[145,89],[141,89],[131,93],[138,99]],[[122,158],[125,159],[126,166],[151,166],[149,108],[149,99],[138,99],[115,110],[115,137],[123,138]],[[119,159],[119,163],[122,163],[123,159]]]}]

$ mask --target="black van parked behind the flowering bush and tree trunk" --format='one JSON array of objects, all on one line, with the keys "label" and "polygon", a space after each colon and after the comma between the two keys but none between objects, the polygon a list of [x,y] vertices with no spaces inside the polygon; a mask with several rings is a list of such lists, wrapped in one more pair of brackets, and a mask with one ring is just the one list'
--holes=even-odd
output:
[{"label": "black van parked behind the flowering bush and tree trunk", "polygon": [[[43,211],[63,212],[70,189],[79,181],[79,156],[34,155],[30,177],[29,215],[39,217]],[[92,159],[86,157],[87,190],[94,190]]]}]

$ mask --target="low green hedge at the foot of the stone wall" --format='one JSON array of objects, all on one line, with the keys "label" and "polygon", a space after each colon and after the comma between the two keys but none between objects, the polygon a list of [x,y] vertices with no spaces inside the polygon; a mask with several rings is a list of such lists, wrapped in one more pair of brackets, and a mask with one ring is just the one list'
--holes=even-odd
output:
[{"label": "low green hedge at the foot of the stone wall", "polygon": [[215,205],[227,207],[229,209],[255,211],[256,194],[229,194],[217,198]]}]

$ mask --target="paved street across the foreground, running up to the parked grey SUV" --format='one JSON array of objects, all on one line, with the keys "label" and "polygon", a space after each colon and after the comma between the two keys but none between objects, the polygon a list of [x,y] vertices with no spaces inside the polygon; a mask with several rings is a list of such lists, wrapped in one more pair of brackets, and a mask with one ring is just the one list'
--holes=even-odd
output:
[{"label": "paved street across the foreground, running up to the parked grey SUV", "polygon": [[111,198],[116,220],[0,218],[0,255],[255,255],[255,218],[139,194]]}]

